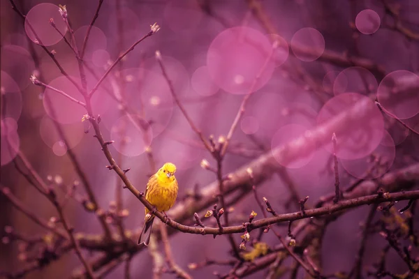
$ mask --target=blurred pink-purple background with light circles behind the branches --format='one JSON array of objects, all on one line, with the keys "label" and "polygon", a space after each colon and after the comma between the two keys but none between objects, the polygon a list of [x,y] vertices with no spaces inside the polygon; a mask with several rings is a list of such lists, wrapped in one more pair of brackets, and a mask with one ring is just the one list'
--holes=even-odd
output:
[{"label": "blurred pink-purple background with light circles behind the branches", "polygon": [[[18,172],[22,163],[16,159],[17,151],[26,156],[41,178],[64,188],[59,192],[63,198],[65,189],[73,185],[80,197],[86,195],[73,165],[74,156],[98,204],[107,211],[115,207],[116,189],[122,187],[122,181],[105,167],[109,163],[93,137],[94,130],[89,121],[82,121],[86,111],[30,80],[35,75],[41,82],[82,100],[38,44],[45,45],[66,73],[80,83],[78,61],[62,38],[65,33],[71,40],[71,33],[58,5],[66,5],[75,45],[80,49],[98,1],[15,3],[27,15],[27,22],[15,13],[8,0],[1,1],[0,10],[1,187],[10,188],[31,212],[50,220],[57,216],[54,206]],[[110,145],[112,155],[122,169],[131,168],[127,175],[138,190],[145,189],[156,168],[166,162],[175,163],[178,200],[216,181],[216,175],[201,167],[201,161],[207,160],[212,167],[216,162],[174,102],[156,62],[156,50],[161,52],[175,93],[205,137],[213,135],[217,141],[220,135],[226,136],[243,97],[253,92],[223,162],[225,175],[265,151],[304,135],[355,100],[369,97],[374,110],[365,116],[367,121],[348,127],[351,136],[340,137],[346,144],[338,153],[341,187],[345,188],[354,179],[365,178],[367,169],[376,164],[371,160],[372,153],[385,160],[384,167],[371,174],[372,178],[418,162],[418,135],[374,105],[378,100],[385,110],[419,132],[418,15],[419,3],[413,0],[105,0],[84,54],[89,67],[87,89],[92,89],[110,63],[145,36],[154,22],[159,24],[161,30],[138,44],[98,87],[92,107],[94,114],[101,115],[105,140],[115,140]],[[51,18],[58,31],[51,26]],[[403,84],[413,84],[413,89],[405,90]],[[391,94],[395,88],[402,88],[396,90],[399,95]],[[130,117],[141,119],[145,130],[135,127]],[[333,193],[330,146],[318,146],[311,155],[291,164],[279,160],[288,181],[284,176],[272,176],[260,186],[260,197],[268,197],[278,213],[288,213],[299,210],[290,202],[290,181],[297,195],[309,196],[307,208],[323,195]],[[155,166],[149,164],[147,148],[152,150]],[[124,226],[139,229],[144,206],[126,189],[122,190],[121,200],[128,214],[123,218]],[[230,223],[240,225],[251,210],[262,218],[250,193],[234,204]],[[11,226],[29,236],[45,234],[45,229],[16,210],[4,195],[0,195],[0,211],[0,227]],[[75,232],[102,233],[96,215],[87,213],[77,199],[68,199],[65,211]],[[350,271],[359,246],[360,222],[368,212],[368,207],[363,206],[328,225],[321,254],[323,274]],[[115,225],[110,227],[117,232]],[[285,235],[286,227],[281,227],[281,232]],[[238,235],[235,239],[240,243]],[[263,241],[270,246],[279,243],[273,233],[265,234]],[[370,241],[365,266],[378,261],[385,242],[376,236]],[[226,236],[212,239],[177,233],[170,236],[170,243],[177,264],[193,277],[214,278],[214,271],[223,274],[231,269],[188,268],[205,259],[232,259]],[[22,252],[24,248],[5,239],[0,246],[1,270],[15,272],[25,266],[29,255]],[[406,270],[395,252],[390,252],[389,257],[391,271]],[[71,252],[27,278],[65,278],[78,266],[80,261]],[[152,266],[152,257],[142,250],[133,256],[131,275],[151,278]],[[263,277],[263,272],[249,278]],[[124,264],[108,274],[108,278],[122,276]],[[303,272],[298,275],[303,276]],[[173,277],[163,274],[163,278]]]}]

